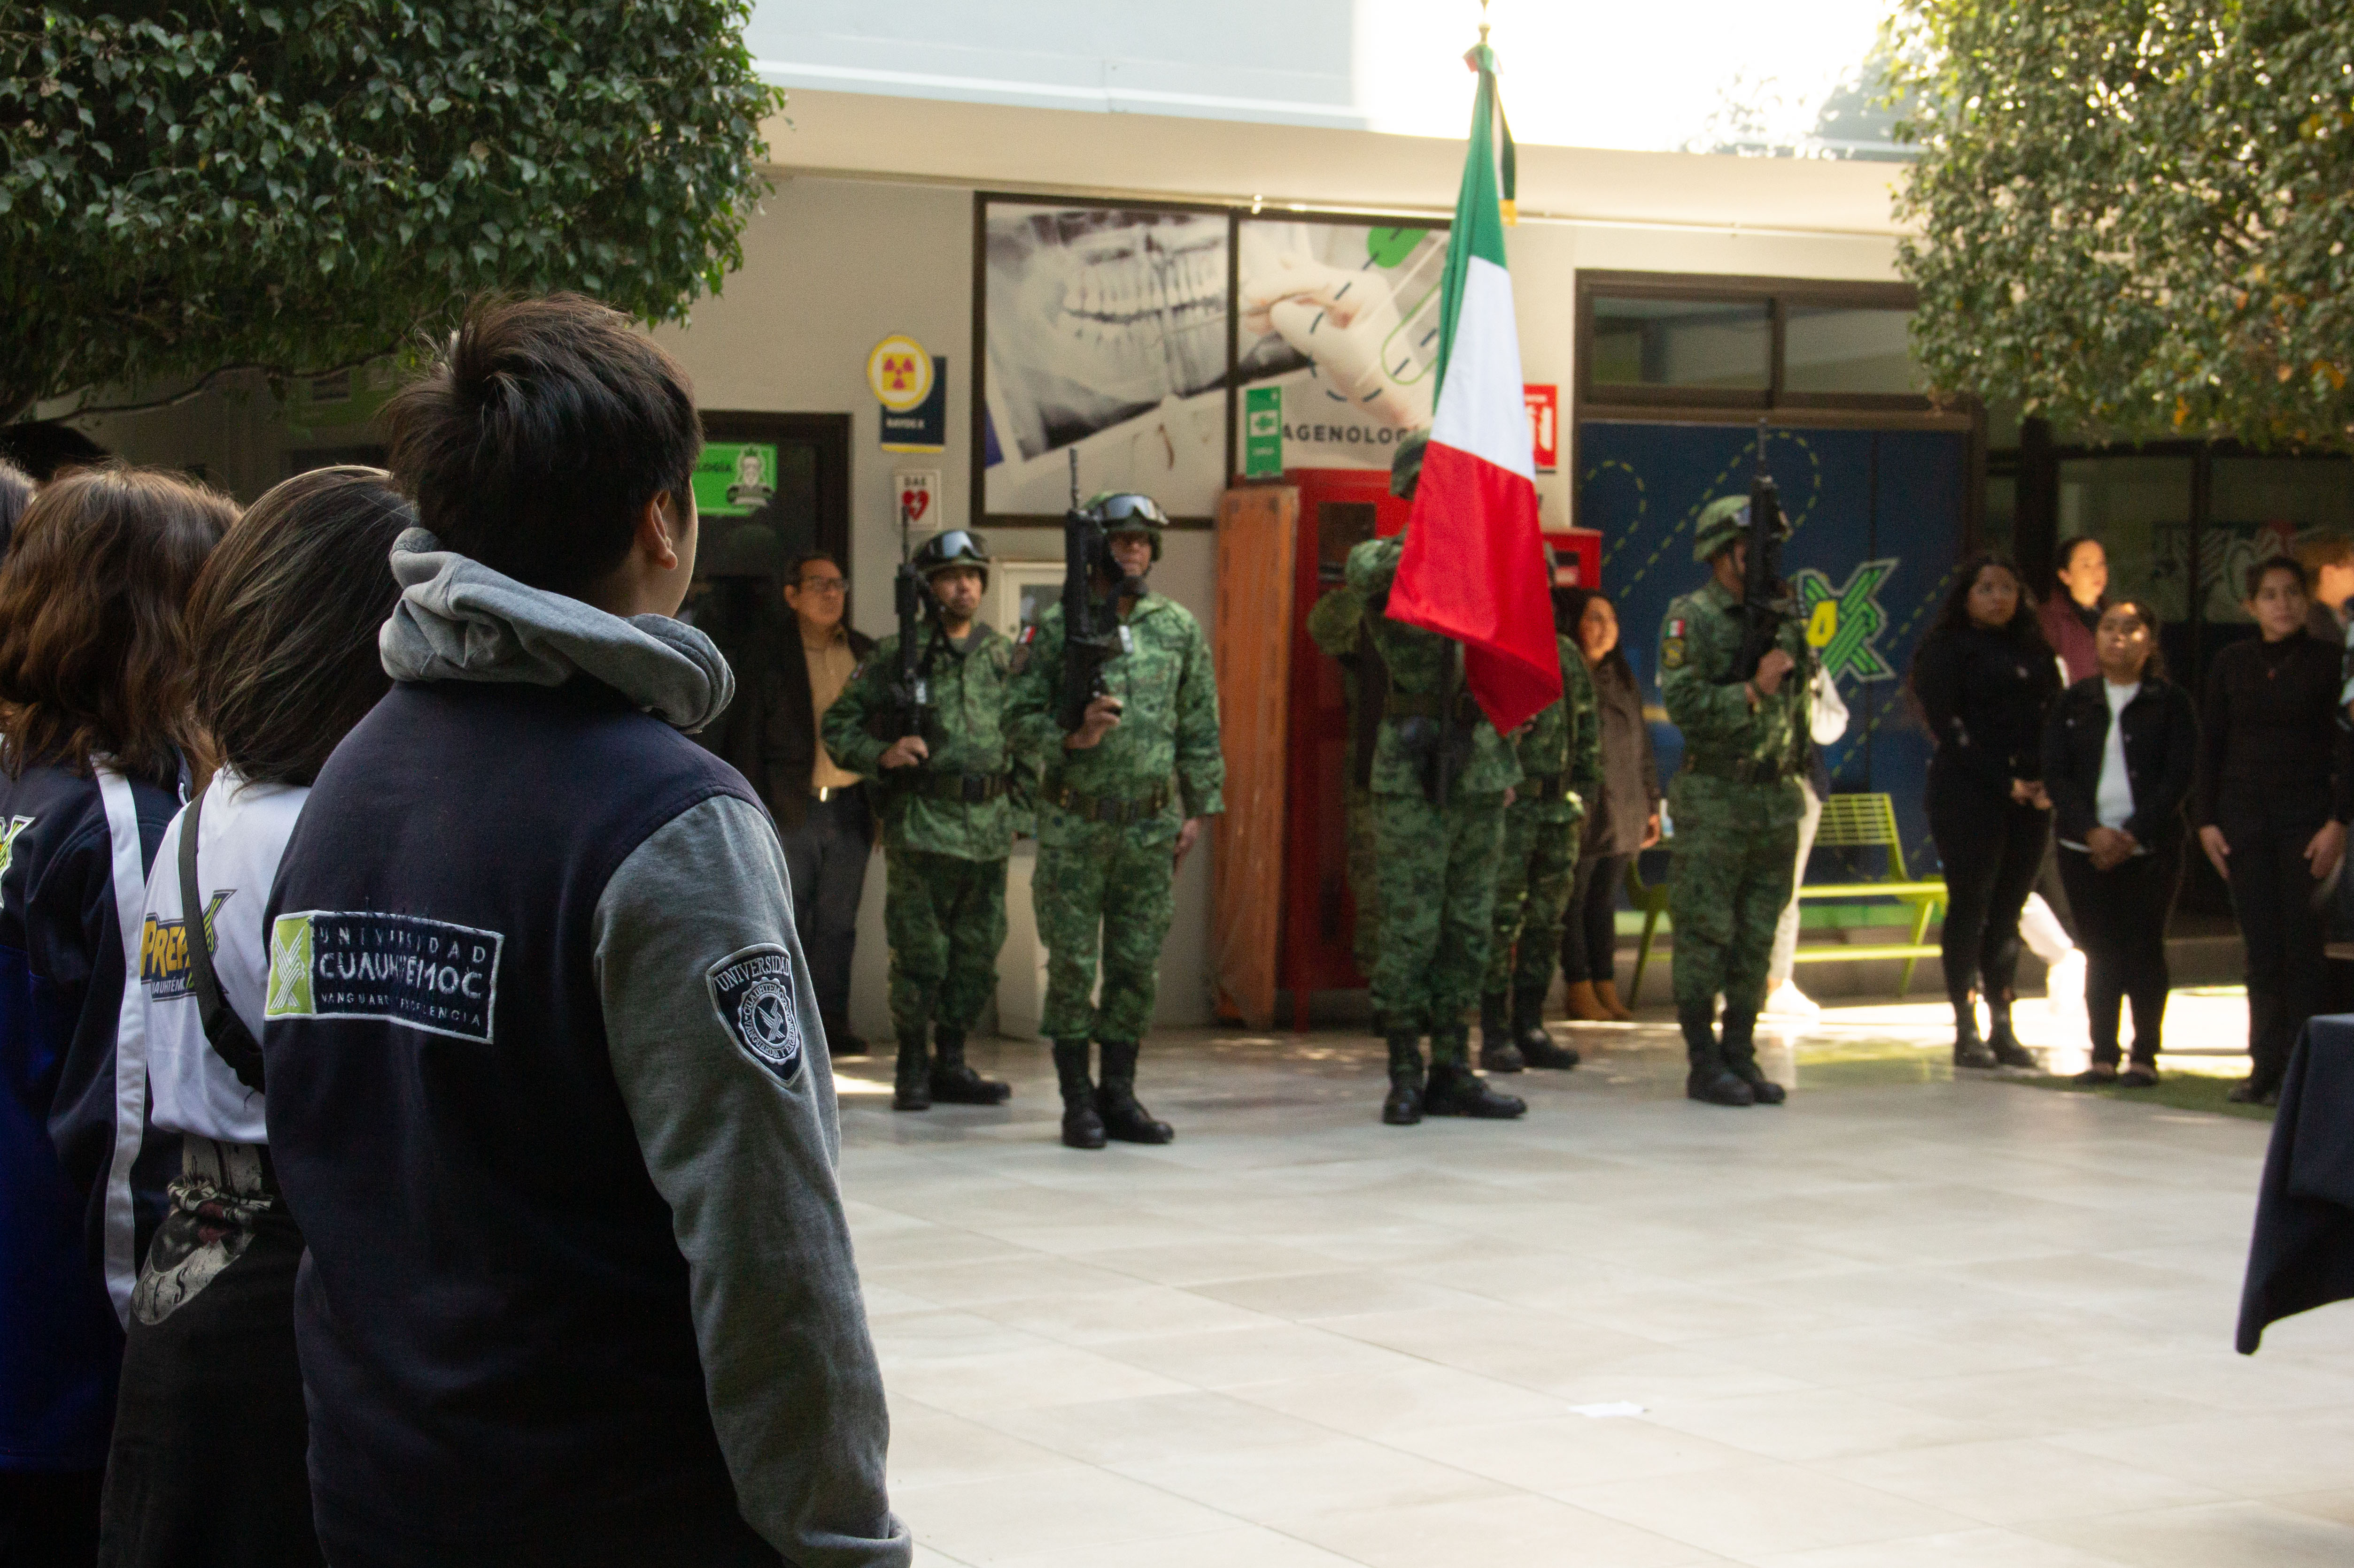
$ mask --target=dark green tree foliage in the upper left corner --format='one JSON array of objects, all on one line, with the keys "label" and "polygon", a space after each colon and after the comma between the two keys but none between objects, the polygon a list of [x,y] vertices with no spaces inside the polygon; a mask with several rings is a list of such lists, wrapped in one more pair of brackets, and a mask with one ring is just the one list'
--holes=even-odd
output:
[{"label": "dark green tree foliage in the upper left corner", "polygon": [[0,5],[0,423],[360,364],[483,289],[678,320],[767,190],[749,0],[97,9]]}]

